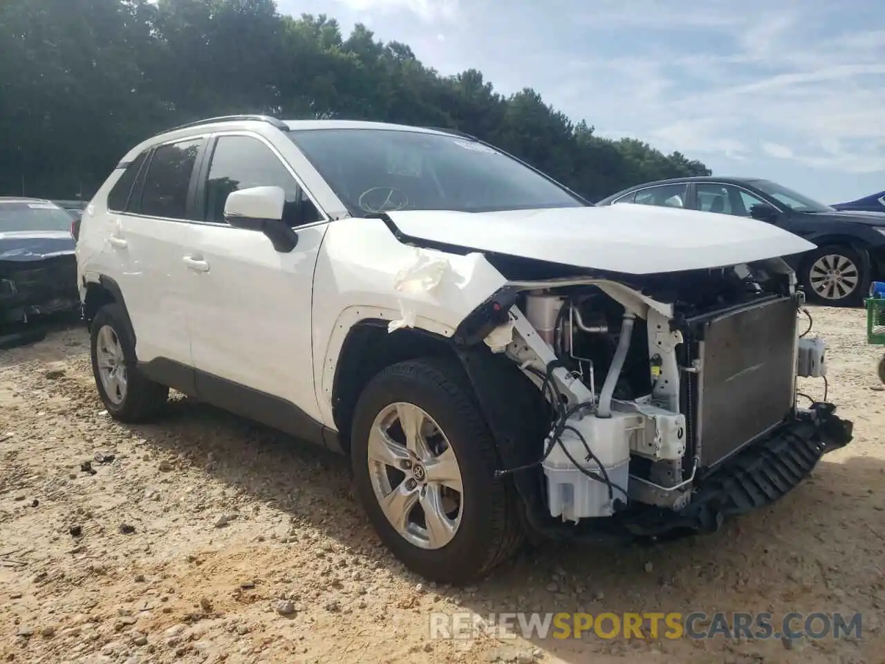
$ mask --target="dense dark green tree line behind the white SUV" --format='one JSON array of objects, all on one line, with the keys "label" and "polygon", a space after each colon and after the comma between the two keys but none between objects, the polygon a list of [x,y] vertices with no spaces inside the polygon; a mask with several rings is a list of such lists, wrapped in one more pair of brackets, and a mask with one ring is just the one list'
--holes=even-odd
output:
[{"label": "dense dark green tree line behind the white SUV", "polygon": [[475,135],[590,200],[709,174],[680,152],[608,140],[533,89],[442,76],[366,26],[282,16],[273,0],[0,2],[0,194],[90,197],[135,143],[227,113],[350,118]]}]

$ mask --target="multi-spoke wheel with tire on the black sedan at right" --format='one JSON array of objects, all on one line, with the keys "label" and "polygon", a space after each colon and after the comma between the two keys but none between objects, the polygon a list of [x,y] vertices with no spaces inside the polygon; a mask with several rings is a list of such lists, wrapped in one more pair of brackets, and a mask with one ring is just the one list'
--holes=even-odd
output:
[{"label": "multi-spoke wheel with tire on the black sedan at right", "polygon": [[800,279],[809,302],[853,306],[866,295],[869,272],[864,257],[850,247],[819,247],[805,259]]}]

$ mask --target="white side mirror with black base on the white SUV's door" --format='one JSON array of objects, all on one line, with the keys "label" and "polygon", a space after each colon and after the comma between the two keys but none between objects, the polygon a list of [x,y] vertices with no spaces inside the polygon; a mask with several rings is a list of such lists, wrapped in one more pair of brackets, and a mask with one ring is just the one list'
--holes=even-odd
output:
[{"label": "white side mirror with black base on the white SUV's door", "polygon": [[298,235],[283,220],[286,192],[280,187],[238,189],[227,196],[224,218],[234,228],[258,230],[267,235],[273,249],[289,253],[298,243]]}]

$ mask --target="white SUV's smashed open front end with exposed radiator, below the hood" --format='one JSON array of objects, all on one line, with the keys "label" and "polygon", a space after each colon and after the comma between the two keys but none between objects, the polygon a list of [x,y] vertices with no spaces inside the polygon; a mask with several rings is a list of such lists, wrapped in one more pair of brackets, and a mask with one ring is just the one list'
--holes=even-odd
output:
[{"label": "white SUV's smashed open front end with exposed radiator, below the hood", "polygon": [[826,375],[803,302],[781,259],[508,282],[453,341],[532,529],[710,531],[848,444],[834,405],[797,405]]}]

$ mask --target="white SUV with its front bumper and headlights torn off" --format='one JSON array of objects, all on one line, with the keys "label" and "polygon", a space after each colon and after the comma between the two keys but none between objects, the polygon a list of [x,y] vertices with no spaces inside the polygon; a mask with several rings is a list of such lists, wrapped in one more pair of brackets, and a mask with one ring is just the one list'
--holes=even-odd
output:
[{"label": "white SUV with its front bumper and headlights torn off", "polygon": [[777,257],[811,248],[455,132],[235,116],[130,151],[77,259],[114,418],[173,388],[349,454],[381,540],[466,583],[527,534],[715,529],[847,444],[797,405],[823,344]]}]

